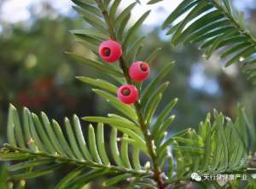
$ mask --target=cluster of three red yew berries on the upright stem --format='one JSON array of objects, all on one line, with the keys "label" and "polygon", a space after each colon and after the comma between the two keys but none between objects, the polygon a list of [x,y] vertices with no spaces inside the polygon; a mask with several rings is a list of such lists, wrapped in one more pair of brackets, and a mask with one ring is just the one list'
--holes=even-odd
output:
[{"label": "cluster of three red yew berries on the upright stem", "polygon": [[[102,60],[113,63],[122,56],[121,45],[113,40],[104,41],[99,47],[99,54]],[[131,64],[129,69],[129,76],[135,82],[143,82],[146,80],[150,73],[150,67],[146,62],[137,61]],[[137,101],[138,91],[134,85],[124,84],[119,87],[117,96],[125,104],[133,104]]]}]

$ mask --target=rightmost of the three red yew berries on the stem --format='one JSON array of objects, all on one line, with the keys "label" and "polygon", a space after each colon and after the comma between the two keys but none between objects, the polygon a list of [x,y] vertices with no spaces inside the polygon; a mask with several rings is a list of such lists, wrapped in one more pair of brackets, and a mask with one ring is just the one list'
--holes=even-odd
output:
[{"label": "rightmost of the three red yew berries on the stem", "polygon": [[146,62],[137,61],[132,63],[129,75],[136,82],[143,82],[150,74],[150,67]]}]

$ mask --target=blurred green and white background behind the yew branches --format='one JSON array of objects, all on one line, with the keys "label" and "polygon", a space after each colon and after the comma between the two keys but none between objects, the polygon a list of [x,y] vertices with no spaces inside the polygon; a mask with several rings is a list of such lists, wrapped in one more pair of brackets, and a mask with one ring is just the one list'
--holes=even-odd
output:
[{"label": "blurred green and white background behind the yew branches", "polygon": [[[125,0],[123,6],[131,2]],[[172,47],[170,37],[165,36],[160,25],[181,0],[165,0],[154,6],[147,6],[146,2],[142,0],[142,5],[137,5],[132,13],[134,21],[138,14],[153,9],[140,31],[140,35],[148,36],[142,60],[153,49],[163,49],[153,62],[152,77],[164,64],[176,61],[166,78],[171,84],[162,103],[179,98],[172,132],[197,128],[213,108],[234,117],[238,102],[256,115],[256,88],[243,77],[239,65],[223,69],[217,55],[206,61],[196,46]],[[248,28],[256,34],[256,2],[234,0],[234,3],[244,11]],[[9,103],[18,108],[27,106],[32,112],[44,111],[60,123],[73,113],[82,117],[113,112],[91,92],[90,86],[75,79],[75,76],[97,77],[100,73],[73,62],[64,53],[90,54],[69,32],[84,25],[72,6],[70,0],[0,0],[0,144],[6,141]],[[65,171],[31,180],[27,188],[53,188]]]}]

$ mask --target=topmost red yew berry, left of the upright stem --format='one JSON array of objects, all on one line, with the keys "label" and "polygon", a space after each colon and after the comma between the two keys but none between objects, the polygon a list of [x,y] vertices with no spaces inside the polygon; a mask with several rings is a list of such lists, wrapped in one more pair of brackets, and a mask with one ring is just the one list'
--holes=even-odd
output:
[{"label": "topmost red yew berry, left of the upright stem", "polygon": [[114,62],[119,60],[122,55],[121,45],[113,40],[104,41],[100,44],[99,54],[102,60],[107,62]]}]

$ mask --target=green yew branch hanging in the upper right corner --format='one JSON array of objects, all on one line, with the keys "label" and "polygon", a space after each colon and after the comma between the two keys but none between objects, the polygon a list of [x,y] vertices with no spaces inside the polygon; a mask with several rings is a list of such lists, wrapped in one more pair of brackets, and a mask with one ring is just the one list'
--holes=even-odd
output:
[{"label": "green yew branch hanging in the upper right corner", "polygon": [[[185,18],[175,23],[182,15]],[[170,27],[166,35],[172,35],[173,45],[201,43],[199,49],[207,60],[218,52],[219,58],[227,60],[226,67],[241,62],[247,79],[256,83],[256,40],[244,22],[231,0],[183,0],[163,28]]]}]

